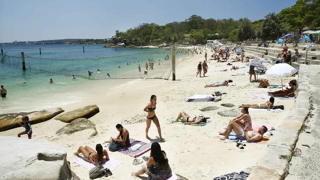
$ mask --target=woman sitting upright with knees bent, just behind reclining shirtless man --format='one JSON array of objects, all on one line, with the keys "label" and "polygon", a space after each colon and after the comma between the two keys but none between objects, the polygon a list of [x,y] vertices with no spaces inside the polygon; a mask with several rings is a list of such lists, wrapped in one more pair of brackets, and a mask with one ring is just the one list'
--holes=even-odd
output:
[{"label": "woman sitting upright with knees bent, just behind reclining shirtless man", "polygon": [[[252,120],[251,120],[251,116],[249,115],[249,109],[247,107],[243,107],[241,110],[241,114],[236,117],[233,120],[229,121],[230,122],[236,122],[242,129],[246,128],[247,125],[247,130],[248,131],[252,131]],[[224,135],[230,130],[228,129],[229,124],[227,125],[227,128],[225,128],[225,130],[223,132],[219,132],[219,134]],[[230,132],[229,132],[230,133]]]}]

